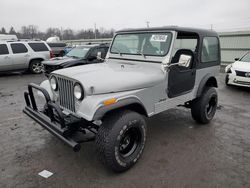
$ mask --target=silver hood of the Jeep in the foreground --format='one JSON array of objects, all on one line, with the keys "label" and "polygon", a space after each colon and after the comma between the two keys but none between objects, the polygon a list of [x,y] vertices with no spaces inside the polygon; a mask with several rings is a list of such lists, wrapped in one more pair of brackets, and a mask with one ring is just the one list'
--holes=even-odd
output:
[{"label": "silver hood of the Jeep in the foreground", "polygon": [[[161,64],[99,63],[54,72],[79,81],[87,94],[129,91],[152,87],[164,81]],[[91,89],[93,87],[93,89]]]}]

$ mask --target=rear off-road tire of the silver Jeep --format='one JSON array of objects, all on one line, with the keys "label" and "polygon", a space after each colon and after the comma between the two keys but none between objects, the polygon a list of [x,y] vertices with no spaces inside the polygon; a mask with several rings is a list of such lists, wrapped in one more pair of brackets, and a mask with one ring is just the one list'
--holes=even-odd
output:
[{"label": "rear off-road tire of the silver Jeep", "polygon": [[205,88],[202,95],[195,99],[191,105],[193,119],[200,124],[209,123],[216,112],[218,95],[213,87]]}]

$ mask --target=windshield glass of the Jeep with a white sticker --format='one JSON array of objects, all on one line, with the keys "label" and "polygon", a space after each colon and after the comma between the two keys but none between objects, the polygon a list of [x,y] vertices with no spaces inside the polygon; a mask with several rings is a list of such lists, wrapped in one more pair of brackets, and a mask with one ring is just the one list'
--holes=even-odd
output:
[{"label": "windshield glass of the Jeep with a white sticker", "polygon": [[165,56],[171,44],[172,34],[129,33],[116,35],[111,53],[146,56]]}]

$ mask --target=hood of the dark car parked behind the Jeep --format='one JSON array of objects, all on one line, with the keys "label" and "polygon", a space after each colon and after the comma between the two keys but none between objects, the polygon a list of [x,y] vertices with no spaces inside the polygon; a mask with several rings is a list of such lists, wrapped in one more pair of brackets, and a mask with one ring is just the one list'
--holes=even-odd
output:
[{"label": "hood of the dark car parked behind the Jeep", "polygon": [[62,65],[63,67],[67,67],[68,64],[78,63],[78,62],[82,62],[82,61],[84,61],[84,60],[73,58],[73,57],[63,56],[63,57],[55,57],[55,58],[52,58],[50,60],[43,61],[42,63],[44,65]]}]

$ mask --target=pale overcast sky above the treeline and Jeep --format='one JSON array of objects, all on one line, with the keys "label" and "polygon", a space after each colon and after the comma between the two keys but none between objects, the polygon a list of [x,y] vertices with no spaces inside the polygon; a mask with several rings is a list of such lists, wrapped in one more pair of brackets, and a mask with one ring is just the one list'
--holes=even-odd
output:
[{"label": "pale overcast sky above the treeline and Jeep", "polygon": [[178,25],[250,30],[250,0],[0,0],[0,28],[74,30]]}]

